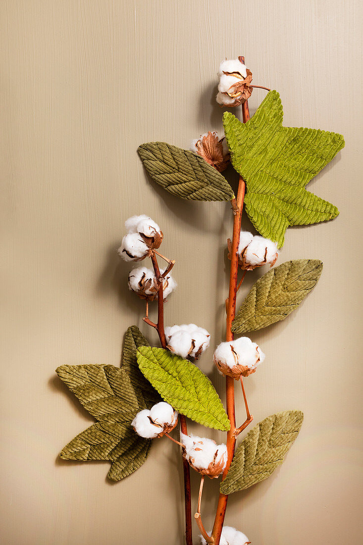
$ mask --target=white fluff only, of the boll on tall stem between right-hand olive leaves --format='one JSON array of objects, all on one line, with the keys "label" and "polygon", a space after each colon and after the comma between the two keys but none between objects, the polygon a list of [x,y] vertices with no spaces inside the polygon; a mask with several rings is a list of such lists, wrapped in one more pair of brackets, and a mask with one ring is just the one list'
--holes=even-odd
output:
[{"label": "white fluff only, of the boll on tall stem between right-hand olive leaves", "polygon": [[265,354],[258,344],[249,337],[240,337],[235,341],[222,342],[214,352],[214,361],[232,368],[235,365],[246,366],[249,369],[263,362]]}]

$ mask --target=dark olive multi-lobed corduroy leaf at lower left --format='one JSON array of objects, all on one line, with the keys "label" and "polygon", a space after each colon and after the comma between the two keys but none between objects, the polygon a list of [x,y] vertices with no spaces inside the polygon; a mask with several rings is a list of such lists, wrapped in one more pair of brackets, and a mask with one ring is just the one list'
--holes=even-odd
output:
[{"label": "dark olive multi-lobed corduroy leaf at lower left", "polygon": [[108,477],[120,480],[145,461],[151,441],[131,427],[136,413],[161,401],[140,372],[137,347],[147,343],[131,326],[125,335],[122,367],[113,365],[62,365],[57,374],[83,407],[98,422],[78,434],[60,453],[67,460],[112,462]]}]

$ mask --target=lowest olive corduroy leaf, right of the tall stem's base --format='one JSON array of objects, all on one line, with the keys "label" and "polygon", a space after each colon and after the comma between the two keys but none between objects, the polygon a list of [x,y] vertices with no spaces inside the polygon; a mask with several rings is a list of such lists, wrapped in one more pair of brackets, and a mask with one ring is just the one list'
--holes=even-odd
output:
[{"label": "lowest olive corduroy leaf, right of the tall stem's base", "polygon": [[247,433],[232,460],[222,494],[244,490],[267,479],[282,464],[287,451],[298,437],[304,415],[287,410],[265,418]]}]

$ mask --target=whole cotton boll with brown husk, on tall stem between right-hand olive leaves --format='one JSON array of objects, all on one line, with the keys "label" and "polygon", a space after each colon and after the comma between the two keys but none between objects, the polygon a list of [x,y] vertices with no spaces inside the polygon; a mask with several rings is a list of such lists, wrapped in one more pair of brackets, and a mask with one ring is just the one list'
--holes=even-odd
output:
[{"label": "whole cotton boll with brown husk, on tall stem between right-hand olive leaves", "polygon": [[239,380],[255,373],[265,355],[258,344],[249,337],[240,337],[235,341],[222,342],[214,352],[214,363],[224,375]]}]

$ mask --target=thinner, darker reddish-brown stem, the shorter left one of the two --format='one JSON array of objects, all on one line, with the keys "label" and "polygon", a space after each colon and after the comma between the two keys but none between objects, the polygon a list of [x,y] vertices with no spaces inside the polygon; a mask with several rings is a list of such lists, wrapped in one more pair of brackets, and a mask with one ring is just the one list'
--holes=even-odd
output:
[{"label": "thinner, darker reddish-brown stem, the shorter left one of the two", "polygon": [[[155,253],[152,253],[150,256],[153,268],[155,272],[155,277],[158,279],[158,324],[156,331],[160,338],[160,343],[162,348],[166,348],[166,337],[164,331],[164,293],[162,287],[162,280],[160,281],[160,269],[158,265],[158,260],[156,259]],[[186,427],[186,418],[183,414],[179,414],[180,422],[180,431],[187,435]],[[189,463],[183,458],[183,473],[184,473],[184,500],[185,500],[185,539],[186,545],[193,545],[192,539],[192,516],[191,516],[191,487],[190,487],[190,467]]]}]

